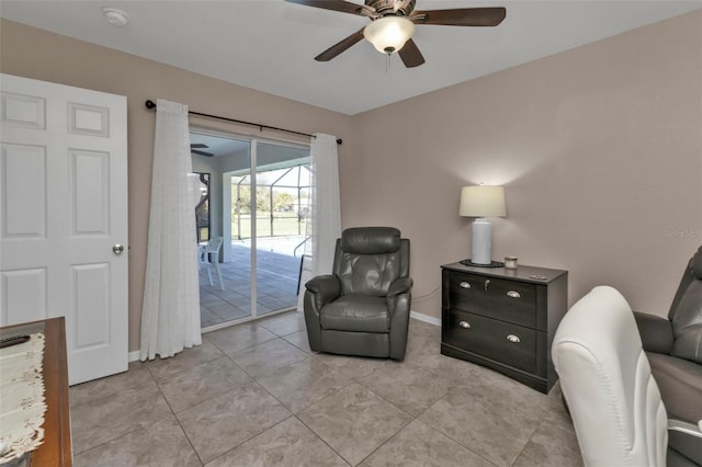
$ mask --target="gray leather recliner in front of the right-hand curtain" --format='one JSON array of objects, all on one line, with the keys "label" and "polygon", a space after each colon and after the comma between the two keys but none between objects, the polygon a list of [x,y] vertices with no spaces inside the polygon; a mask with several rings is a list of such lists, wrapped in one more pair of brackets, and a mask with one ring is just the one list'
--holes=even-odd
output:
[{"label": "gray leather recliner in front of the right-hand curtain", "polygon": [[409,240],[393,227],[346,229],[332,273],[305,284],[315,352],[403,360],[411,305]]}]

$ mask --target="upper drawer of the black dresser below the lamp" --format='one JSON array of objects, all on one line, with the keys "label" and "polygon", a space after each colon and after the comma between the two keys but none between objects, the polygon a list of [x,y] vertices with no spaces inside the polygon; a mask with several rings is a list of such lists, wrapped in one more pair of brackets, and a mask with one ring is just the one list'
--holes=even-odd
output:
[{"label": "upper drawer of the black dresser below the lamp", "polygon": [[534,284],[452,272],[449,301],[451,309],[537,329]]}]

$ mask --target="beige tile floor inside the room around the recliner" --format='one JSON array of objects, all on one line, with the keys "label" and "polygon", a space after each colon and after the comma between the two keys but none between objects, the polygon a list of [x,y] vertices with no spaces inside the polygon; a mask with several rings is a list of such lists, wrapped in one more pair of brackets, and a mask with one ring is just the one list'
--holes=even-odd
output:
[{"label": "beige tile floor inside the room around the recliner", "polygon": [[580,466],[546,396],[443,356],[410,320],[403,362],[309,351],[302,314],[203,335],[70,388],[76,466]]}]

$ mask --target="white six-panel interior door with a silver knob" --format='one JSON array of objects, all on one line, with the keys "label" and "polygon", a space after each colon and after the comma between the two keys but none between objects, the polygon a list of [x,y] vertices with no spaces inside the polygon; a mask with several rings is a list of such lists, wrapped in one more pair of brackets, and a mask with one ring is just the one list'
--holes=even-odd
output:
[{"label": "white six-panel interior door with a silver knob", "polygon": [[126,98],[0,75],[0,324],[66,317],[69,384],[127,369]]}]

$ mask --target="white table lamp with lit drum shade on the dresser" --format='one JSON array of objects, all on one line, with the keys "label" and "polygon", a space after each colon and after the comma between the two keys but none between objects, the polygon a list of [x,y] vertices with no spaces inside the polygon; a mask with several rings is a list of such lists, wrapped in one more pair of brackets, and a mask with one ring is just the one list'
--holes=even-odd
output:
[{"label": "white table lamp with lit drum shade on the dresser", "polygon": [[505,189],[502,186],[464,186],[461,190],[458,214],[476,217],[473,221],[473,258],[476,265],[492,263],[492,224],[486,217],[505,217]]}]

